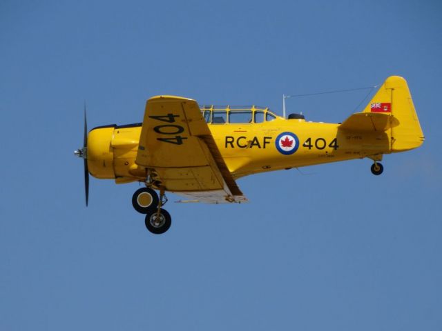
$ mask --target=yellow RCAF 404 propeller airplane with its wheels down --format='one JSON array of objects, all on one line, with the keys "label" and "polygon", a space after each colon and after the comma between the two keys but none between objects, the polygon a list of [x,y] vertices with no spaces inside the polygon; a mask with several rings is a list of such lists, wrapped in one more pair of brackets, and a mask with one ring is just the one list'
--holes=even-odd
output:
[{"label": "yellow RCAF 404 propeller airplane with its wheels down", "polygon": [[[300,114],[288,119],[268,108],[203,106],[192,99],[148,99],[142,123],[101,126],[87,132],[84,147],[86,205],[89,173],[116,183],[144,183],[133,194],[146,228],[166,232],[171,216],[165,192],[181,202],[244,203],[236,179],[273,170],[362,159],[381,174],[383,154],[418,148],[424,141],[410,90],[402,77],[385,80],[363,112],[343,123],[314,123]],[[155,192],[159,191],[159,195]]]}]

